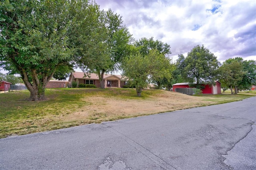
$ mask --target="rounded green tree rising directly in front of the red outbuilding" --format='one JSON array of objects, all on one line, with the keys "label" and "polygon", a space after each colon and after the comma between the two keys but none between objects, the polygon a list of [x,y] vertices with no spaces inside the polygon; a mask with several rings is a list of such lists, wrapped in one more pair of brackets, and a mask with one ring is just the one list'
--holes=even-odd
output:
[{"label": "rounded green tree rising directly in front of the red outbuilding", "polygon": [[182,72],[184,80],[196,86],[202,83],[214,83],[220,63],[217,57],[205,48],[204,45],[194,47],[186,58],[180,56],[178,59],[178,67]]}]

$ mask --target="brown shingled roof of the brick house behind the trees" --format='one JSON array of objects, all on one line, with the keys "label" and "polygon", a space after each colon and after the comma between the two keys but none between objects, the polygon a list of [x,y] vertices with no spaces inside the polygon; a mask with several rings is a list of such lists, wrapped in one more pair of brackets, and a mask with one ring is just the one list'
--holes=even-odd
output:
[{"label": "brown shingled roof of the brick house behind the trees", "polygon": [[[95,74],[95,73],[91,73],[91,74],[89,74],[89,76],[84,76],[84,72],[72,72],[71,74],[70,74],[70,78],[69,78],[69,80],[68,81],[70,81],[71,80],[71,76],[74,76],[74,78],[79,78],[79,79],[91,79],[91,80],[99,80],[99,77],[98,77],[98,75],[97,74]],[[103,75],[103,79],[106,79],[106,78],[110,78],[111,76],[115,76],[115,77],[117,77],[117,78],[119,78],[119,79],[122,79],[122,76],[121,75],[116,75],[116,74],[104,74]]]}]

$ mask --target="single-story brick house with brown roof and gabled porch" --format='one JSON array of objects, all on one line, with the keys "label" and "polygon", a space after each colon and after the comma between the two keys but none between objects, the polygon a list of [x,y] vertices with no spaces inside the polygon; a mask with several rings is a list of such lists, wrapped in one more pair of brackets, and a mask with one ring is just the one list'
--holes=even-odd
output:
[{"label": "single-story brick house with brown roof and gabled porch", "polygon": [[[104,74],[103,76],[105,88],[117,87],[122,88],[126,85],[126,81],[122,79],[121,75],[116,74]],[[72,72],[69,76],[68,82],[76,81],[78,84],[94,84],[96,87],[100,87],[100,81],[97,74],[91,73],[90,76],[85,76],[84,72]]]}]

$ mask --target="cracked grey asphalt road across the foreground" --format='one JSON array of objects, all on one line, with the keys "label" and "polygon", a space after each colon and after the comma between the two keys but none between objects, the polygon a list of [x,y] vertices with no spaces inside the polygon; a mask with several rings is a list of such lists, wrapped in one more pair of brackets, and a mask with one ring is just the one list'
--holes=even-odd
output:
[{"label": "cracked grey asphalt road across the foreground", "polygon": [[0,139],[0,169],[255,170],[255,122],[253,97],[8,137]]}]

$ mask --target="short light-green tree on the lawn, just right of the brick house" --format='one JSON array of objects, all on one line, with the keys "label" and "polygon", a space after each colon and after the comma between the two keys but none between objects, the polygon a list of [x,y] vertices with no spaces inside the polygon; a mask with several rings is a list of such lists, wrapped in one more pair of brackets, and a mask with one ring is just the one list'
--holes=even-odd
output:
[{"label": "short light-green tree on the lawn, just right of the brick house", "polygon": [[148,86],[154,76],[170,76],[166,71],[166,63],[170,64],[170,59],[156,49],[150,50],[148,55],[137,53],[126,57],[123,76],[127,78],[130,86],[135,86],[137,96],[141,96],[142,89]]}]

